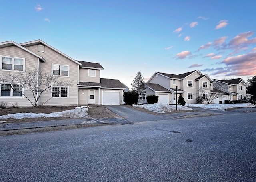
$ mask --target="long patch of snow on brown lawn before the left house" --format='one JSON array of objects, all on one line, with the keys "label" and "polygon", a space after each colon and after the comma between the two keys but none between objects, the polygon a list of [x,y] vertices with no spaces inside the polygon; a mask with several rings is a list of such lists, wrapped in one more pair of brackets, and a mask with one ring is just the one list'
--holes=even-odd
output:
[{"label": "long patch of snow on brown lawn before the left house", "polygon": [[38,117],[87,117],[88,106],[76,107],[72,110],[61,111],[61,112],[52,112],[50,114],[45,113],[16,113],[0,116],[0,119],[22,119],[22,118],[38,118]]}]

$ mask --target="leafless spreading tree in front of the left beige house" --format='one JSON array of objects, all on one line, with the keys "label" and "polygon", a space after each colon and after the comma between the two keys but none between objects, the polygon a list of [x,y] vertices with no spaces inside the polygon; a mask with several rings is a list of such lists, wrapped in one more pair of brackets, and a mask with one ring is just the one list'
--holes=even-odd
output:
[{"label": "leafless spreading tree in front of the left beige house", "polygon": [[[9,73],[7,76],[0,74],[0,83],[8,84],[12,90],[26,97],[34,107],[38,107],[38,100],[43,93],[51,92],[52,86],[72,86],[73,81],[74,80],[60,80],[59,76],[48,72],[43,72],[42,69],[18,71],[12,74]],[[22,85],[22,87],[24,87],[24,93],[22,93],[17,85]],[[26,95],[28,92],[32,92],[34,100]],[[52,97],[46,100],[46,102],[48,102],[51,98]],[[44,102],[42,105],[44,105],[46,102]]]}]

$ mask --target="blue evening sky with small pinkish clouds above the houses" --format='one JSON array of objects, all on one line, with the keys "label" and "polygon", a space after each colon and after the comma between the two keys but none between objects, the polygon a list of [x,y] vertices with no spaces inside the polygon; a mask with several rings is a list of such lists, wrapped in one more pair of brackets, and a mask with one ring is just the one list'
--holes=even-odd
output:
[{"label": "blue evening sky with small pinkish clouds above the houses", "polygon": [[200,70],[211,78],[256,75],[254,0],[8,0],[0,42],[41,39],[101,78],[131,87],[142,73]]}]

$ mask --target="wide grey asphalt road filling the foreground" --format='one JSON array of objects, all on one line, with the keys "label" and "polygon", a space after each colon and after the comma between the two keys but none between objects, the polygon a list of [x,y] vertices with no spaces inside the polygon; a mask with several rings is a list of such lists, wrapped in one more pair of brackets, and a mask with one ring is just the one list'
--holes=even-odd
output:
[{"label": "wide grey asphalt road filling the foreground", "polygon": [[255,118],[238,110],[1,136],[0,181],[255,182]]}]

